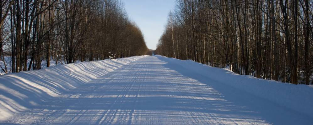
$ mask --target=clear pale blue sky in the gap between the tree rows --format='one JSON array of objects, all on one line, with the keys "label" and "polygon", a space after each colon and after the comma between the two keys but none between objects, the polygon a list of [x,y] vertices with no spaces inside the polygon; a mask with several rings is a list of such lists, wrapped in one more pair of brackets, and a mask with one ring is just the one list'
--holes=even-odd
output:
[{"label": "clear pale blue sky in the gap between the tree rows", "polygon": [[155,49],[167,16],[175,7],[175,0],[122,0],[128,17],[136,22],[149,49]]}]

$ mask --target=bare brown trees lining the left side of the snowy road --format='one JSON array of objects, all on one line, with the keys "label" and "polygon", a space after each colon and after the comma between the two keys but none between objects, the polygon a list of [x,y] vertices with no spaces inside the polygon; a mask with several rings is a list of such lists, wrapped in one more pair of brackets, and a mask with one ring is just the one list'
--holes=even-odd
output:
[{"label": "bare brown trees lining the left side of the snowy road", "polygon": [[119,0],[0,0],[0,19],[0,56],[12,57],[11,72],[148,51]]}]

